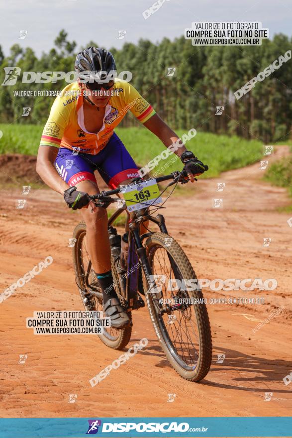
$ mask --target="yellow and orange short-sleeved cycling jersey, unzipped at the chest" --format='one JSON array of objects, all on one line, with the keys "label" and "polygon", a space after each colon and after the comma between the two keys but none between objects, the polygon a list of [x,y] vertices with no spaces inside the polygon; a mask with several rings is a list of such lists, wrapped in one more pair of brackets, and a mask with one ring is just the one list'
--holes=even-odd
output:
[{"label": "yellow and orange short-sleeved cycling jersey, unzipped at the chest", "polygon": [[69,84],[55,99],[40,145],[61,146],[96,155],[107,144],[114,128],[130,110],[141,123],[155,114],[151,105],[128,82],[115,80],[105,108],[103,125],[95,134],[84,125],[84,96],[78,82]]}]

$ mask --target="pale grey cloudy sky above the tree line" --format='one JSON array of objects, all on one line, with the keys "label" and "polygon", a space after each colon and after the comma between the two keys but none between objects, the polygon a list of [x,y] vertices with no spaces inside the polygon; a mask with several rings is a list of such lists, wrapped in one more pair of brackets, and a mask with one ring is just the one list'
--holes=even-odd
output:
[{"label": "pale grey cloudy sky above the tree line", "polygon": [[[146,12],[145,19],[143,12],[153,0],[0,0],[0,45],[5,55],[18,43],[39,56],[54,46],[57,34],[65,29],[77,49],[91,40],[118,49],[140,38],[154,43],[164,37],[173,40],[191,28],[192,21],[261,21],[270,29],[270,37],[280,32],[292,35],[291,0],[160,1],[162,6],[153,14]],[[20,30],[27,30],[24,39],[18,39]],[[118,39],[119,30],[126,31],[123,39]]]}]

